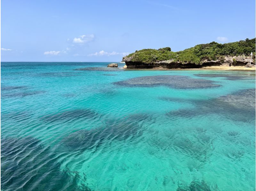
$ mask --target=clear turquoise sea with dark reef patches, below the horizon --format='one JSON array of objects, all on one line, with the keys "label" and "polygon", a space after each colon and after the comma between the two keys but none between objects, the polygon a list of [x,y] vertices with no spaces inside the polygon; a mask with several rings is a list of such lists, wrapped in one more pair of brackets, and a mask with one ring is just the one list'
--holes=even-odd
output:
[{"label": "clear turquoise sea with dark reef patches, below the horizon", "polygon": [[1,63],[2,190],[255,190],[255,72],[107,64]]}]

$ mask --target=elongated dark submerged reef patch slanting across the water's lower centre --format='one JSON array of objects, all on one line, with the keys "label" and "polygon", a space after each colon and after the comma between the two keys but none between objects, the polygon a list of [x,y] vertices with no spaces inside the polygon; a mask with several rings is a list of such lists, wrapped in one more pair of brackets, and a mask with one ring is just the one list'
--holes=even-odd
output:
[{"label": "elongated dark submerged reef patch slanting across the water's lower centre", "polygon": [[69,134],[62,144],[70,150],[84,151],[97,149],[111,141],[133,141],[143,135],[144,129],[140,122],[151,120],[147,114],[134,114],[122,119],[110,119],[105,125],[91,130],[79,130]]}]

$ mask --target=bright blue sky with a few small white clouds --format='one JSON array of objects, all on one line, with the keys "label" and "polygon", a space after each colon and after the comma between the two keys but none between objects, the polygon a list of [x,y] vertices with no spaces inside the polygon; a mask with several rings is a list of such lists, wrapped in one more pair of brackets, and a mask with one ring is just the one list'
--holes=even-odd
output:
[{"label": "bright blue sky with a few small white clouds", "polygon": [[255,0],[2,0],[1,61],[120,62],[255,38]]}]

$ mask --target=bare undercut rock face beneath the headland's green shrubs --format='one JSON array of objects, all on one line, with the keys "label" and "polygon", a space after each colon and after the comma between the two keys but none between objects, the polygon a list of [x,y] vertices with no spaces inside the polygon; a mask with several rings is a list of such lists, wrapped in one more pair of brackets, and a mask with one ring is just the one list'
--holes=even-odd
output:
[{"label": "bare undercut rock face beneath the headland's green shrubs", "polygon": [[[125,62],[124,68],[202,68],[204,66],[245,66],[248,62],[250,62],[250,57],[245,56],[226,56],[223,60],[203,60],[200,64],[194,64],[190,62],[177,62],[174,60],[164,60],[164,61],[156,61],[150,64],[141,63],[141,62],[133,62],[132,57],[124,57],[123,61]],[[250,63],[249,63],[250,64]],[[255,63],[252,62],[252,65],[255,67]],[[245,67],[253,67],[253,66],[245,66]]]}]

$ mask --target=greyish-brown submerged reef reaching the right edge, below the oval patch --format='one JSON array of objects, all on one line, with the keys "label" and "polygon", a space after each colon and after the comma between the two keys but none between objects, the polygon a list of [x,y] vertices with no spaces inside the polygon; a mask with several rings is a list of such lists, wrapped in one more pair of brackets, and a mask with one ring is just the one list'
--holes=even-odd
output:
[{"label": "greyish-brown submerged reef reaching the right edge, below the oval patch", "polygon": [[[163,98],[161,98],[163,99]],[[165,98],[172,101],[172,98]],[[174,101],[178,101],[174,99]],[[210,100],[190,100],[196,109],[180,109],[170,111],[167,116],[181,116],[186,118],[199,115],[218,113],[238,121],[251,121],[255,119],[255,89],[244,89],[227,96]]]}]

